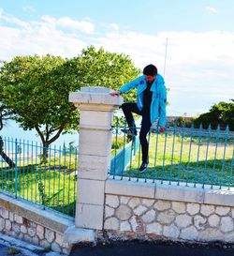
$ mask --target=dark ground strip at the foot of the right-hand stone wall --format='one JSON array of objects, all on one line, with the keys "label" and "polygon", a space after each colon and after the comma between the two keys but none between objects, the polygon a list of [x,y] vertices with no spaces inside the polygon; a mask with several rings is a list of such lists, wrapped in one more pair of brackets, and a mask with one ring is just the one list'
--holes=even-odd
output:
[{"label": "dark ground strip at the foot of the right-hand stone wall", "polygon": [[176,243],[113,243],[77,246],[69,256],[233,256],[234,248]]}]

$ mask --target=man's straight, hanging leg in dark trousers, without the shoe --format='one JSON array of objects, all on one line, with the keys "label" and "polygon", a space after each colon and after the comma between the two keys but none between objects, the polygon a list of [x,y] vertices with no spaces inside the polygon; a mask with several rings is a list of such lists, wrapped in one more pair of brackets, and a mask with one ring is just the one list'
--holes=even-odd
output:
[{"label": "man's straight, hanging leg in dark trousers, without the shoe", "polygon": [[151,117],[150,113],[142,113],[142,123],[139,132],[139,141],[141,145],[141,152],[142,152],[142,163],[148,163],[148,154],[149,154],[149,143],[147,141],[147,133],[151,128]]}]

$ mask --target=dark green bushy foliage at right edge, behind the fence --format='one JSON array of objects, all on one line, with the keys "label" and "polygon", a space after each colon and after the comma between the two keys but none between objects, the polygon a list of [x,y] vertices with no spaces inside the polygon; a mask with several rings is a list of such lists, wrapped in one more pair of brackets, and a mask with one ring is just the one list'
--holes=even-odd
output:
[{"label": "dark green bushy foliage at right edge, behind the fence", "polygon": [[209,113],[200,114],[195,120],[195,126],[198,127],[201,123],[203,128],[208,128],[211,124],[212,128],[226,128],[227,125],[230,130],[234,130],[234,99],[231,102],[220,101],[212,105]]}]

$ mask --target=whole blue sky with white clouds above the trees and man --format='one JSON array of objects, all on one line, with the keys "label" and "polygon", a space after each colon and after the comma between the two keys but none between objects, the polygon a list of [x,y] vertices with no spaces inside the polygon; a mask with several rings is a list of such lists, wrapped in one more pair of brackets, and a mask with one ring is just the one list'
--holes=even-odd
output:
[{"label": "whole blue sky with white clouds above the trees and man", "polygon": [[0,0],[0,60],[103,47],[154,64],[168,115],[196,116],[234,98],[233,13],[233,0]]}]

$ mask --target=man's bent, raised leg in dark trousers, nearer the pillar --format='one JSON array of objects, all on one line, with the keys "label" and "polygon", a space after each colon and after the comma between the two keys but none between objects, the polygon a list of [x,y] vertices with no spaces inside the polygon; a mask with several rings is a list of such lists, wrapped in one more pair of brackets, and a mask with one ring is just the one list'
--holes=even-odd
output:
[{"label": "man's bent, raised leg in dark trousers, nearer the pillar", "polygon": [[131,130],[131,132],[136,135],[137,134],[137,128],[136,124],[133,118],[132,113],[141,114],[139,111],[139,108],[137,106],[137,103],[124,103],[122,105],[122,110],[124,112],[124,116],[128,125],[128,128]]}]

